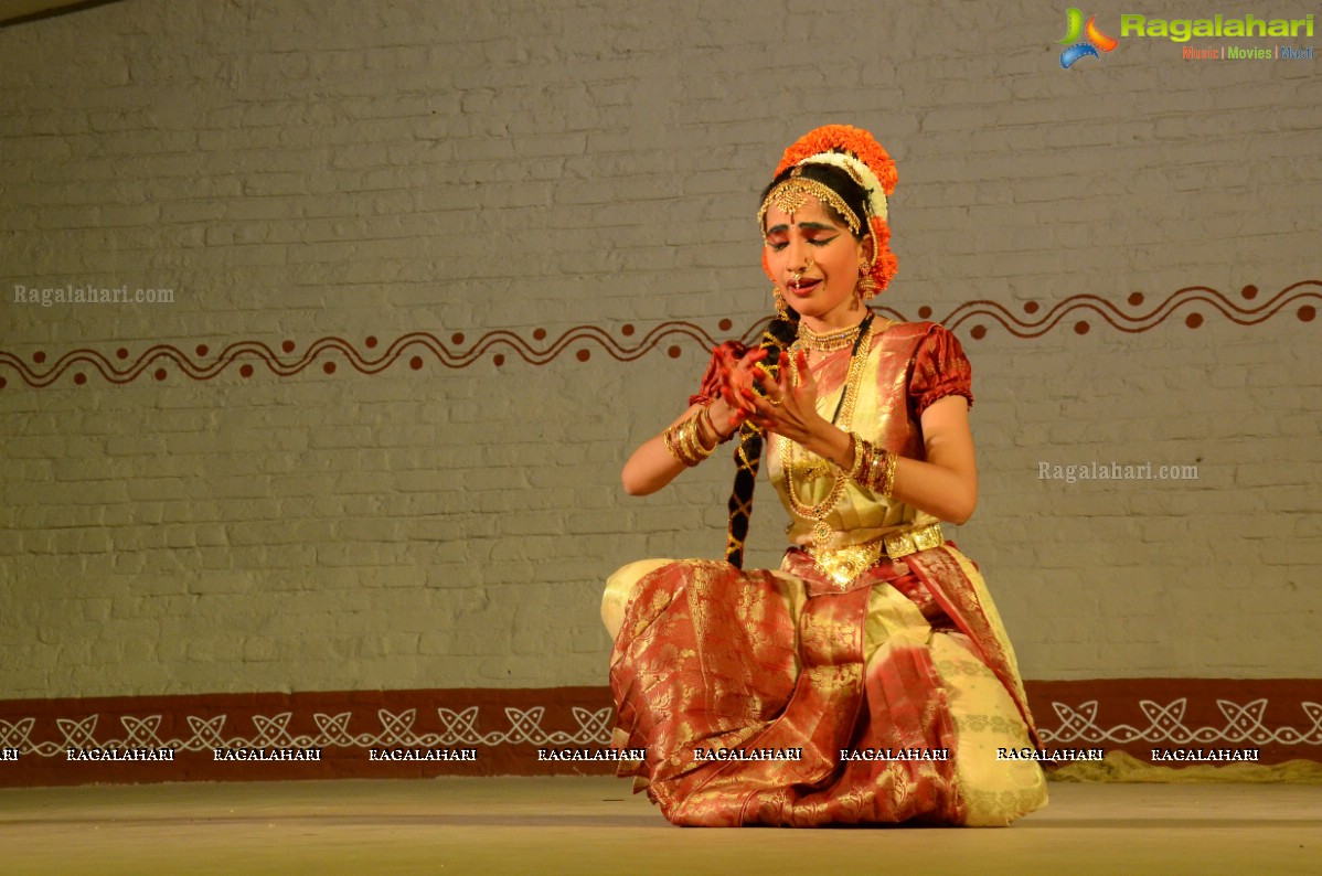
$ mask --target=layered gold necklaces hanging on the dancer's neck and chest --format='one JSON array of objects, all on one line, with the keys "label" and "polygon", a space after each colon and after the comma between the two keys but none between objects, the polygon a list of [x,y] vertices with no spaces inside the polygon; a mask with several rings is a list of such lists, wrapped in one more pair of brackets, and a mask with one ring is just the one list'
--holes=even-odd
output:
[{"label": "layered gold necklaces hanging on the dancer's neck and chest", "polygon": [[[805,342],[806,338],[810,340]],[[845,341],[841,342],[841,338],[845,338]],[[849,358],[849,373],[845,377],[845,388],[836,406],[836,415],[832,418],[832,423],[846,432],[849,432],[850,423],[854,419],[854,406],[858,403],[858,390],[863,383],[863,371],[867,367],[871,340],[871,314],[855,326],[826,334],[817,334],[802,324],[798,326],[798,341],[795,342],[795,346],[802,345],[809,350],[826,351],[824,347],[812,346],[812,344],[829,342],[837,345],[830,347],[830,350],[841,350],[851,344],[854,345],[853,354]],[[798,517],[813,521],[813,544],[825,547],[832,539],[832,527],[826,523],[826,518],[836,510],[841,497],[845,495],[845,488],[849,485],[849,474],[839,470],[839,466],[832,465],[826,460],[806,452],[804,461],[798,462],[796,458],[797,448],[798,445],[784,435],[780,436],[780,458],[785,469],[785,493],[789,495],[789,507]],[[830,492],[826,493],[826,498],[816,505],[805,505],[798,498],[798,490],[795,486],[796,469],[802,473],[805,484],[810,484],[821,476],[834,476],[836,480],[832,484]]]}]

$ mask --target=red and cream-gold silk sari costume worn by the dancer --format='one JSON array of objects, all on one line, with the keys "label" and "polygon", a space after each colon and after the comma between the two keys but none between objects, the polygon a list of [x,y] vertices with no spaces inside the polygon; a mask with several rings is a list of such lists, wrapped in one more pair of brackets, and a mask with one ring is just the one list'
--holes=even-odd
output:
[{"label": "red and cream-gold silk sari costume worn by the dancer", "polygon": [[[813,369],[824,416],[849,359],[846,349]],[[972,403],[958,341],[895,324],[873,338],[851,428],[923,458],[919,418],[947,395]],[[767,462],[788,510],[777,445],[768,440]],[[812,505],[832,478],[804,457],[795,484]],[[1043,806],[1038,764],[998,758],[1036,747],[1036,731],[973,562],[941,542],[935,518],[854,482],[826,518],[843,550],[814,559],[813,521],[791,517],[779,571],[642,560],[611,577],[603,613],[623,612],[613,743],[646,749],[620,774],[690,826],[1007,824]],[[923,550],[907,552],[915,536]]]}]

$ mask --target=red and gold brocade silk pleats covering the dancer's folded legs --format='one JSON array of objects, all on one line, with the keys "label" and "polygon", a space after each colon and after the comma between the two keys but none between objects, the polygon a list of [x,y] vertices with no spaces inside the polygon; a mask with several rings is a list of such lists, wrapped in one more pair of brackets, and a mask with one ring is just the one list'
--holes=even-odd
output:
[{"label": "red and gold brocade silk pleats covering the dancer's folded legs", "polygon": [[[646,760],[621,773],[636,776],[680,824],[966,823],[961,729],[951,707],[958,673],[948,679],[937,663],[957,667],[966,658],[984,667],[984,655],[1007,651],[978,610],[976,588],[949,580],[961,569],[951,555],[923,575],[882,563],[843,592],[793,575],[805,562],[810,567],[792,551],[788,572],[773,573],[682,560],[642,576],[612,654],[611,684],[616,744],[646,749]],[[948,618],[939,608],[945,604],[957,605],[960,618]],[[982,641],[989,633],[992,641]],[[952,634],[958,643],[947,641]],[[1013,658],[1001,663],[982,680],[1003,700],[1006,744],[1022,745],[1027,710]],[[756,758],[713,757],[724,750]],[[993,823],[1044,797],[1040,772],[1011,784],[1029,790],[1022,811],[1006,810],[998,789]]]}]

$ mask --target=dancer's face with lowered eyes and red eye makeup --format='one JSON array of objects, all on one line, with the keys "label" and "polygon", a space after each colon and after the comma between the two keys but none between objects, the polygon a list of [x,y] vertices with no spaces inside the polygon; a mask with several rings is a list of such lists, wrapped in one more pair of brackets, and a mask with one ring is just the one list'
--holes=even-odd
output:
[{"label": "dancer's face with lowered eyes and red eye makeup", "polygon": [[793,214],[767,207],[767,266],[789,307],[809,325],[845,326],[863,318],[854,295],[859,266],[867,263],[867,239],[808,198]]}]

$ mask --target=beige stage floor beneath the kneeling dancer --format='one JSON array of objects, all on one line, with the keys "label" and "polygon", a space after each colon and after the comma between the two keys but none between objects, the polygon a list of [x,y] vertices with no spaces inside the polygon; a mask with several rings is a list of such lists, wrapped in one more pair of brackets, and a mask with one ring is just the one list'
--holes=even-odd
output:
[{"label": "beige stage floor beneath the kneeling dancer", "polygon": [[0,873],[1322,873],[1317,785],[1076,785],[1005,830],[685,830],[612,778],[0,790]]}]

